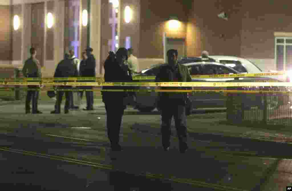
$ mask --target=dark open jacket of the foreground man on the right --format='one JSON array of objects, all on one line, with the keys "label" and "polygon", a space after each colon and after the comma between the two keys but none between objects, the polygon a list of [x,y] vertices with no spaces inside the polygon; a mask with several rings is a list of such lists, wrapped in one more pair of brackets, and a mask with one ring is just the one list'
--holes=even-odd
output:
[{"label": "dark open jacket of the foreground man on the right", "polygon": [[[178,82],[191,82],[192,78],[190,71],[187,66],[182,64],[177,64],[176,69],[171,68],[169,65],[161,66],[159,72],[155,78],[155,82],[172,82],[174,77],[177,77]],[[163,90],[187,90],[192,89],[192,87],[161,87]],[[177,93],[177,92],[161,92],[159,93],[159,102],[169,102],[178,103],[185,105],[187,100],[187,93]]]}]

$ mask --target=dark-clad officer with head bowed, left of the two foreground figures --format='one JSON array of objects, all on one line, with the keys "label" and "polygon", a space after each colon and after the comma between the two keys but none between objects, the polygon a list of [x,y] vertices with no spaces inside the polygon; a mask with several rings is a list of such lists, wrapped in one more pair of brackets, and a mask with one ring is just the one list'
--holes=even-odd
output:
[{"label": "dark-clad officer with head bowed, left of the two foreground figures", "polygon": [[[126,48],[119,48],[114,54],[109,52],[104,65],[105,69],[105,82],[127,82],[132,81],[131,70],[125,61],[128,59],[128,51]],[[102,90],[107,89],[128,89],[128,87],[121,86],[103,86]],[[121,151],[119,145],[119,134],[121,128],[122,116],[127,105],[127,97],[132,96],[133,92],[110,92],[102,91],[102,101],[105,103],[105,110],[107,112],[107,135],[111,143],[112,151]]]}]

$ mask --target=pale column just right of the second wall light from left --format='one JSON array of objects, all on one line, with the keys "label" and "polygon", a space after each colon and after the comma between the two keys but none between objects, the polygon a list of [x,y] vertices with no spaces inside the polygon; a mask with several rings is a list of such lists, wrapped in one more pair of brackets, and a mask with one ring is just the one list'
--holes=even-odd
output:
[{"label": "pale column just right of the second wall light from left", "polygon": [[55,0],[54,61],[55,66],[64,58],[65,1]]}]

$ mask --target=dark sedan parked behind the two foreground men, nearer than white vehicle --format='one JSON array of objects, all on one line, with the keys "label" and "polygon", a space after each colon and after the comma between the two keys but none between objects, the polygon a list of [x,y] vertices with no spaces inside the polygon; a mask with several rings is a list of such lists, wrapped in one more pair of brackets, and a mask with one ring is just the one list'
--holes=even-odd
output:
[{"label": "dark sedan parked behind the two foreground men, nearer than white vehicle", "polygon": [[[183,60],[183,59],[182,59]],[[180,60],[180,63],[182,63]],[[186,60],[186,59],[185,59]],[[191,75],[204,75],[204,74],[238,74],[239,72],[232,69],[225,64],[217,62],[201,62],[196,57],[188,58],[190,63],[185,62],[183,65],[189,67]],[[194,62],[192,62],[194,61]],[[142,70],[138,75],[141,76],[156,76],[159,67],[164,64],[157,64],[151,68]],[[245,65],[244,65],[245,66]],[[255,67],[257,68],[257,67]],[[251,72],[252,67],[248,67],[248,71]],[[260,69],[258,69],[260,70]],[[252,72],[256,73],[256,72]],[[192,78],[192,82],[256,82],[256,81],[279,81],[277,79],[271,79],[267,77],[245,77],[245,78]],[[138,80],[140,82],[153,82],[154,80]],[[280,81],[279,81],[280,82]],[[139,87],[140,89],[155,89],[155,87]],[[227,87],[194,87],[196,90],[226,90]],[[260,87],[245,87],[245,90],[259,90]],[[265,88],[267,89],[267,88]],[[270,88],[269,88],[270,89]],[[274,90],[279,90],[280,87],[273,87]],[[263,88],[261,89],[263,90]],[[156,108],[157,92],[137,92],[137,109],[141,112],[150,112]],[[246,99],[246,107],[251,106],[263,106],[262,96],[257,96],[256,94],[248,94],[244,96]],[[281,96],[275,96],[276,100],[271,101],[270,108],[279,107],[281,103]],[[226,108],[226,94],[224,93],[195,93],[195,95],[190,96],[193,108]],[[286,104],[286,103],[285,103]]]}]

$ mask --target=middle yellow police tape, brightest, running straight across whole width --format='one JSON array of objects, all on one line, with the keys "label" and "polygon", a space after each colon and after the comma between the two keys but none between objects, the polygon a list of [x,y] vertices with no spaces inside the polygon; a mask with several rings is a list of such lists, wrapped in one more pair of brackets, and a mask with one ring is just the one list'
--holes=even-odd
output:
[{"label": "middle yellow police tape, brightest, running straight across whole width", "polygon": [[0,82],[16,86],[144,86],[144,87],[235,87],[235,86],[292,86],[292,82]]}]

